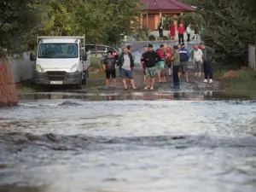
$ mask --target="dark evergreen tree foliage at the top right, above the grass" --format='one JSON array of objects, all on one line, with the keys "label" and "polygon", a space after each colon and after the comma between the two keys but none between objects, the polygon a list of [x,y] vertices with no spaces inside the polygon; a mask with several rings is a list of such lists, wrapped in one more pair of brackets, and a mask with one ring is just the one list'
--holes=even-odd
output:
[{"label": "dark evergreen tree foliage at the top right, above the grass", "polygon": [[225,62],[247,60],[247,45],[256,40],[256,4],[254,0],[180,0],[198,9],[204,19],[203,40],[216,49]]}]

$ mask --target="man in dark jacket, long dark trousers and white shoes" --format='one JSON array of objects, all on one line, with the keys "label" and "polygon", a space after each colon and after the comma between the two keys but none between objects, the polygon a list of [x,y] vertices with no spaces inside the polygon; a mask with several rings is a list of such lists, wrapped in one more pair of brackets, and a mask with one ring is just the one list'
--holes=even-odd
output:
[{"label": "man in dark jacket, long dark trousers and white shoes", "polygon": [[[203,67],[205,73],[205,80],[204,83],[212,84],[212,57],[214,55],[214,49],[206,47],[206,44],[201,43],[201,51],[203,53]],[[209,81],[208,81],[209,77]]]}]

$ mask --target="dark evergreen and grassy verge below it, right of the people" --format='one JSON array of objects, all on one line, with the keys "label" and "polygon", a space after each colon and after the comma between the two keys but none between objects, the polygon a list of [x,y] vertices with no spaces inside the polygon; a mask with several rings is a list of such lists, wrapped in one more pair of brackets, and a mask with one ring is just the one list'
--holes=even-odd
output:
[{"label": "dark evergreen and grassy verge below it, right of the people", "polygon": [[[256,96],[256,72],[247,68],[247,46],[256,42],[254,0],[179,0],[197,7],[186,16],[202,25],[202,40],[216,50],[214,75],[231,91]],[[218,64],[217,64],[218,63]]]}]

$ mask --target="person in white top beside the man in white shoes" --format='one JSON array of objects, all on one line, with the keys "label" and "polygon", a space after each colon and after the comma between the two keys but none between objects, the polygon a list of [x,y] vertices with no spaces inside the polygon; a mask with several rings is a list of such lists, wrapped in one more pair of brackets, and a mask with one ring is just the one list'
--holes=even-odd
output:
[{"label": "person in white top beside the man in white shoes", "polygon": [[203,56],[203,53],[201,49],[199,49],[198,45],[196,44],[194,49],[192,49],[190,52],[190,59],[195,64],[195,70],[196,70],[195,78],[201,78],[201,68],[203,64],[202,56]]}]

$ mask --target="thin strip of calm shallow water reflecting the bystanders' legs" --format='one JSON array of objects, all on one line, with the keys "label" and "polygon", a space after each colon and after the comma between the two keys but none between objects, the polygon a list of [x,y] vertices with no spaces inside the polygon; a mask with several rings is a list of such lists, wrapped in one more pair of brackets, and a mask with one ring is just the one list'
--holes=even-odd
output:
[{"label": "thin strip of calm shallow water reflecting the bystanders' legs", "polygon": [[248,96],[236,96],[222,91],[201,92],[131,92],[131,93],[98,93],[98,94],[72,94],[72,93],[32,93],[20,95],[20,100],[42,100],[42,99],[79,99],[85,101],[121,101],[121,100],[230,100],[249,99]]}]

